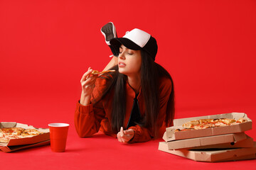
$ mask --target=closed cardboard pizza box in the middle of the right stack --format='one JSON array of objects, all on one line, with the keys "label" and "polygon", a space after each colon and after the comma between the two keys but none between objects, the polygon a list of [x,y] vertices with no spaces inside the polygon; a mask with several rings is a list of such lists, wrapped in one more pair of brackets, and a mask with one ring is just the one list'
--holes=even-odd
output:
[{"label": "closed cardboard pizza box in the middle of the right stack", "polygon": [[[218,148],[218,147],[235,147],[237,142],[247,139],[245,132],[227,134],[227,135],[217,135],[210,137],[196,137],[186,140],[172,140],[167,142],[169,149],[184,149],[191,147],[206,147]],[[251,140],[251,145],[246,145],[244,147],[253,147],[253,140]],[[240,145],[241,146],[241,145]]]}]

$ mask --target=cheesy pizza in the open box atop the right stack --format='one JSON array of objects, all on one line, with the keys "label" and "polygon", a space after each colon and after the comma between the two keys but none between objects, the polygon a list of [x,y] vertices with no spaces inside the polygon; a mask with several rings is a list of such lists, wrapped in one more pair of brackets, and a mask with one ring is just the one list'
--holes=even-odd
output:
[{"label": "cheesy pizza in the open box atop the right stack", "polygon": [[235,125],[235,124],[245,123],[245,122],[247,122],[245,118],[240,118],[238,120],[228,119],[228,118],[191,120],[182,125],[184,129],[182,130],[176,129],[175,132],[215,128],[215,127]]}]

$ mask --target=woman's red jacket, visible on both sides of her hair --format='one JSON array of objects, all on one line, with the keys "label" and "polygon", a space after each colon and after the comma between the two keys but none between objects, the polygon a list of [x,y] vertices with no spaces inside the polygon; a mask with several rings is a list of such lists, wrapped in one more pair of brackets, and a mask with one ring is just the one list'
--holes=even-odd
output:
[{"label": "woman's red jacket, visible on both sides of her hair", "polygon": [[[104,89],[106,85],[105,79],[97,79],[95,83],[95,89],[92,92],[91,101],[94,98],[97,98],[102,89]],[[133,99],[135,97],[135,92],[126,84],[126,114],[124,118],[124,130],[127,129],[127,124],[132,113]],[[157,118],[156,126],[158,127],[159,137],[164,135],[164,131],[166,130],[166,125],[164,123],[166,116],[166,107],[167,102],[169,100],[169,96],[171,94],[171,80],[167,78],[161,79],[161,84],[159,86],[159,97],[160,97],[160,111],[159,116]],[[138,103],[139,103],[139,111],[142,114],[142,118],[145,113],[145,104],[141,91],[139,91],[138,95]],[[109,98],[103,98],[100,102],[95,105],[87,105],[82,106],[79,101],[77,103],[75,109],[75,129],[78,132],[80,137],[90,137],[93,134],[97,133],[99,130],[104,132],[106,135],[111,135],[113,137],[117,137],[112,131],[111,128],[111,101]],[[153,134],[149,128],[144,128],[139,125],[131,126],[129,129],[133,129],[135,131],[134,138],[130,142],[146,142],[151,140]]]}]

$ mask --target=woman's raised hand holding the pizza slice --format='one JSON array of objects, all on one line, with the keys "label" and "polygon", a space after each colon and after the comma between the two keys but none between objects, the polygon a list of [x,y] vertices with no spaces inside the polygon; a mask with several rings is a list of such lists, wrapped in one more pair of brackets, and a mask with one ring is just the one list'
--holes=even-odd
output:
[{"label": "woman's raised hand holding the pizza slice", "polygon": [[97,75],[93,75],[92,71],[93,70],[89,67],[88,71],[82,75],[82,79],[80,81],[82,86],[80,104],[84,106],[90,104],[90,96],[95,88],[95,81],[98,77]]}]

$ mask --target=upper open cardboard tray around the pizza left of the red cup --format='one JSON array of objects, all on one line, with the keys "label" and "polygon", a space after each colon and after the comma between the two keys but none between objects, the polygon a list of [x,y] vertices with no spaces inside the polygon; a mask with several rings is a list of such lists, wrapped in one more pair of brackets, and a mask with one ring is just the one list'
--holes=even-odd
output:
[{"label": "upper open cardboard tray around the pizza left of the red cup", "polygon": [[0,143],[1,146],[15,146],[15,145],[30,145],[35,144],[38,142],[50,140],[50,131],[48,128],[34,128],[32,125],[26,125],[22,123],[16,123],[16,122],[1,122],[0,123],[1,128],[25,128],[25,129],[36,129],[40,132],[44,132],[41,135],[36,135],[33,137],[25,137],[21,139],[12,139],[8,143]]}]

